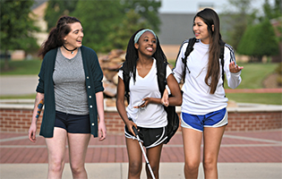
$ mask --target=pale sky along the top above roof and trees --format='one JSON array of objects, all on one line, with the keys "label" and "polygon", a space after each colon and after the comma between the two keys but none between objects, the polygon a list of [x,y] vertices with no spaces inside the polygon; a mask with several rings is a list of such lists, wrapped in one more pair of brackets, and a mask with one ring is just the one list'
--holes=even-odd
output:
[{"label": "pale sky along the top above roof and trees", "polygon": [[[261,9],[264,1],[252,0],[252,7]],[[217,13],[221,13],[228,7],[227,0],[161,0],[161,2],[162,6],[159,9],[159,13],[197,13],[200,6],[209,6],[209,4],[213,5],[213,9]],[[273,2],[274,0],[269,0],[269,4]]]}]

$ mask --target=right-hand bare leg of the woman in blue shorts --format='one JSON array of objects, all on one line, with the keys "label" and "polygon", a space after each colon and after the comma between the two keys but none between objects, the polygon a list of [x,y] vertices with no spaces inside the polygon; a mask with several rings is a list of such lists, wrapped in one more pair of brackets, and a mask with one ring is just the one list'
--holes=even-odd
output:
[{"label": "right-hand bare leg of the woman in blue shorts", "polygon": [[218,178],[218,152],[226,126],[205,127],[203,132],[203,168],[206,179]]}]

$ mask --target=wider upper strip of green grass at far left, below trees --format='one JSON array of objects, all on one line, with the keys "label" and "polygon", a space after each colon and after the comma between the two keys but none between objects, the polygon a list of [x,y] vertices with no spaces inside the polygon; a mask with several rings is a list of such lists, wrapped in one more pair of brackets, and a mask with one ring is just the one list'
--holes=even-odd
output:
[{"label": "wider upper strip of green grass at far left, below trees", "polygon": [[9,70],[4,71],[4,60],[0,62],[1,75],[38,74],[41,60],[9,61]]}]

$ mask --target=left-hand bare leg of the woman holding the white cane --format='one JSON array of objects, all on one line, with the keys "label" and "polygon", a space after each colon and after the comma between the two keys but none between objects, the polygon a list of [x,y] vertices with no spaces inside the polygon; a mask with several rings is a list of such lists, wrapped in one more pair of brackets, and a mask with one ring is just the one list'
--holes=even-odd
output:
[{"label": "left-hand bare leg of the woman holding the white cane", "polygon": [[125,138],[128,154],[128,178],[140,178],[142,169],[142,152],[137,140]]}]

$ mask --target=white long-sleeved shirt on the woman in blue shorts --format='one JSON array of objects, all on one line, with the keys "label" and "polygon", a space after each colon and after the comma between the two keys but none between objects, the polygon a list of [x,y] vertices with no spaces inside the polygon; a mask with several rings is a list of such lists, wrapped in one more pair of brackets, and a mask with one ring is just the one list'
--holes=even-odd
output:
[{"label": "white long-sleeved shirt on the woman in blue shorts", "polygon": [[[178,55],[175,64],[174,75],[176,81],[181,81],[184,72],[184,63],[182,58],[186,51],[188,43],[183,44],[180,54]],[[209,94],[209,86],[205,83],[205,77],[208,71],[209,62],[209,45],[196,42],[193,46],[191,54],[187,58],[187,67],[190,73],[186,70],[184,86],[182,90],[183,103],[182,112],[192,115],[205,115],[213,111],[217,111],[227,106],[228,99],[225,97],[225,90],[222,86],[222,67],[220,64],[220,78],[218,81],[217,90],[214,94]],[[229,71],[229,64],[235,62],[235,55],[232,47],[226,44],[224,50],[224,71],[226,72],[226,80],[228,86],[235,89],[241,80],[240,72],[232,73]]]}]

